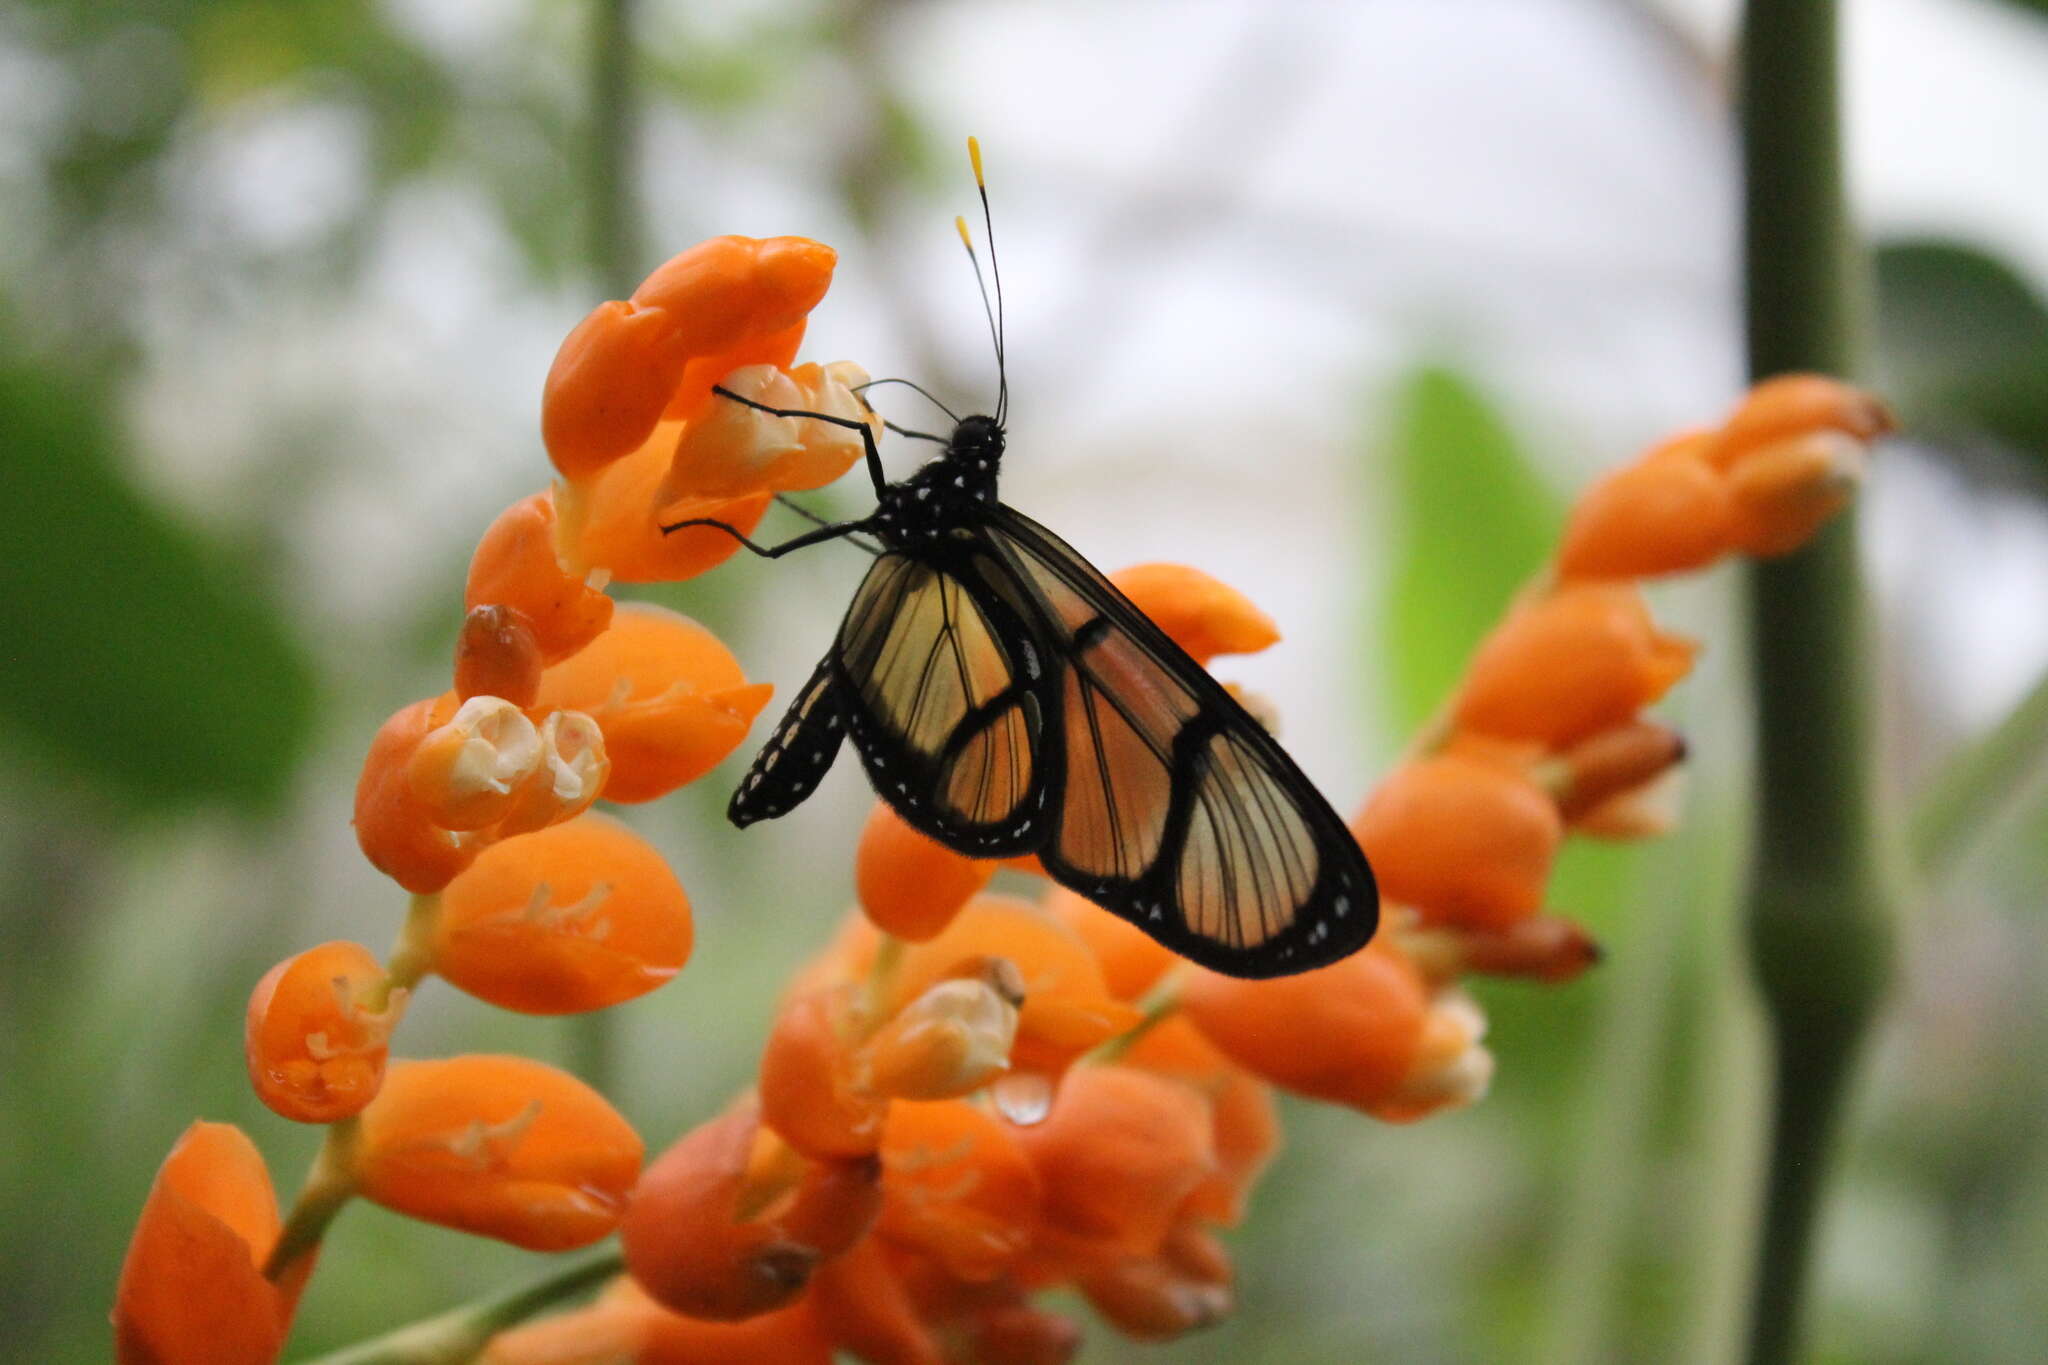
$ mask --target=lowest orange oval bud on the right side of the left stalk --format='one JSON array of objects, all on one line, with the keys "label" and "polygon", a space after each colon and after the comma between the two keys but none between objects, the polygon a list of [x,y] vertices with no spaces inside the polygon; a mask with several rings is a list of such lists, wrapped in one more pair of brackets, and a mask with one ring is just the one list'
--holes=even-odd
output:
[{"label": "lowest orange oval bud on the right side of the left stalk", "polygon": [[522,1056],[393,1062],[354,1148],[367,1199],[528,1250],[608,1236],[639,1162],[602,1095]]}]

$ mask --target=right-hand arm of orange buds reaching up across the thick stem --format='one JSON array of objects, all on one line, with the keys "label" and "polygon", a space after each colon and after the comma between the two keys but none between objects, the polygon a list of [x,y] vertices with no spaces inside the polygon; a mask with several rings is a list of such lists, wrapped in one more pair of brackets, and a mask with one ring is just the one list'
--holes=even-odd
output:
[{"label": "right-hand arm of orange buds reaching up across the thick stem", "polygon": [[1569,831],[1659,835],[1683,739],[1645,718],[1692,667],[1636,579],[1804,544],[1890,430],[1819,375],[1757,385],[1720,428],[1651,448],[1573,508],[1554,565],[1473,655],[1442,720],[1352,821],[1397,937],[1434,970],[1563,980],[1597,956],[1542,915]]}]

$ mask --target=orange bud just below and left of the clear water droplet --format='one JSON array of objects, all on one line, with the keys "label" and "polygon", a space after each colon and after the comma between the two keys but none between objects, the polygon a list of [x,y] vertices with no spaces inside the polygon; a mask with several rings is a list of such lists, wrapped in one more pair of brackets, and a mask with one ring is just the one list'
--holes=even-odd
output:
[{"label": "orange bud just below and left of the clear water droplet", "polygon": [[1012,1128],[958,1099],[889,1107],[883,1134],[881,1230],[985,1281],[1030,1244],[1038,1171]]}]

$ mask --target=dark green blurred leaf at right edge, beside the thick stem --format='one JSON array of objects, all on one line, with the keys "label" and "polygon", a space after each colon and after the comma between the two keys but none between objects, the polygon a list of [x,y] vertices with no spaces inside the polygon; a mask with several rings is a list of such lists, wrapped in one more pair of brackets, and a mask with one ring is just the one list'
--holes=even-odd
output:
[{"label": "dark green blurred leaf at right edge, beside the thick stem", "polygon": [[1909,430],[1952,450],[1997,442],[2048,481],[2048,305],[2017,270],[1958,241],[1884,246],[1878,340]]}]

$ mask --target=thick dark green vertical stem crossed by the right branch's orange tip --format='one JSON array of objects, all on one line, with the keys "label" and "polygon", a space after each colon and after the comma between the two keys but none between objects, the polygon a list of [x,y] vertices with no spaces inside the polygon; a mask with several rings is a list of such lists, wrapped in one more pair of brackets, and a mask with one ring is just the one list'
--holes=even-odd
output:
[{"label": "thick dark green vertical stem crossed by the right branch's orange tip", "polygon": [[[1841,186],[1835,0],[1751,0],[1741,33],[1749,372],[1855,370],[1858,260]],[[1757,702],[1749,948],[1772,1072],[1749,1361],[1790,1361],[1843,1093],[1884,995],[1888,892],[1870,802],[1855,520],[1749,573]]]}]

